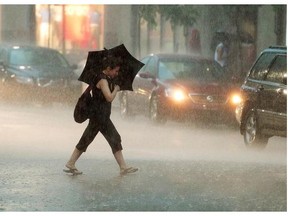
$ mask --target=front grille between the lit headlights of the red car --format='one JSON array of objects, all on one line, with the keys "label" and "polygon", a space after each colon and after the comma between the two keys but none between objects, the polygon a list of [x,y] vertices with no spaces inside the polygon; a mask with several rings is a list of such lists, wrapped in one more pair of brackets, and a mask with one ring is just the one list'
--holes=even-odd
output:
[{"label": "front grille between the lit headlights of the red car", "polygon": [[189,97],[195,104],[225,104],[227,102],[227,98],[221,95],[189,94]]}]

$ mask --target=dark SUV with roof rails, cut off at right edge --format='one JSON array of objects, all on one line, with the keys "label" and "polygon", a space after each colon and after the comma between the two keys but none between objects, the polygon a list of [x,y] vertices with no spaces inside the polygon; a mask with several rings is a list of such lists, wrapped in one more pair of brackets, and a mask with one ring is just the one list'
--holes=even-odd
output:
[{"label": "dark SUV with roof rails, cut off at right edge", "polygon": [[236,108],[248,147],[263,148],[272,136],[287,136],[287,48],[264,50],[241,87]]}]

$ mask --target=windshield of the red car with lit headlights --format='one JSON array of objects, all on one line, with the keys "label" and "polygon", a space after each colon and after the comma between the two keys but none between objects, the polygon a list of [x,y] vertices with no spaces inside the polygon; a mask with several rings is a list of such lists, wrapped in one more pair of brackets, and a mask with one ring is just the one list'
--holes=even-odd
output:
[{"label": "windshield of the red car with lit headlights", "polygon": [[221,81],[222,68],[209,61],[190,59],[162,59],[159,61],[159,79],[185,79],[195,81]]}]

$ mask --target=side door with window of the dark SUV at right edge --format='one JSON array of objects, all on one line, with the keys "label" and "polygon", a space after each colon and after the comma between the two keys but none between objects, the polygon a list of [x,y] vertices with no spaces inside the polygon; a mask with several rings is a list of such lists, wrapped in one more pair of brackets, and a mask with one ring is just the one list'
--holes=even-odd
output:
[{"label": "side door with window of the dark SUV at right edge", "polygon": [[264,87],[262,100],[266,103],[265,123],[274,130],[286,130],[287,121],[287,57],[278,55],[275,57],[265,78],[267,85]]}]

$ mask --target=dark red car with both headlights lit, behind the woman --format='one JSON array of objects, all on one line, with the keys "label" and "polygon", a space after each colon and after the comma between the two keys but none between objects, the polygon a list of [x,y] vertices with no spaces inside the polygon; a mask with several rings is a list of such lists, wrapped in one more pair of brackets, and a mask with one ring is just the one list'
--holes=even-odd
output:
[{"label": "dark red car with both headlights lit, behind the woman", "polygon": [[235,120],[239,86],[214,61],[185,54],[152,54],[133,82],[120,93],[122,117],[144,113],[153,122],[171,119]]}]

